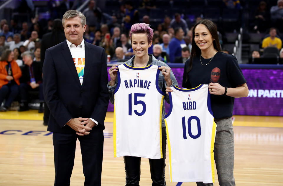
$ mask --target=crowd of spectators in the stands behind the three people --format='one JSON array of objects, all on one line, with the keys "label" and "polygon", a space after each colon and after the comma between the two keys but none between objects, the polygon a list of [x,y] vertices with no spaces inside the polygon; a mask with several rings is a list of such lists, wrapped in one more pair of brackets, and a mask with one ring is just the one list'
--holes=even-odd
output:
[{"label": "crowd of spectators in the stands behind the three people", "polygon": [[[27,9],[27,11],[34,9],[30,4],[32,1],[27,2],[27,6],[21,6],[21,9]],[[107,7],[101,1],[99,2],[102,8],[97,6],[95,0],[90,0],[87,8],[82,10],[87,20],[83,37],[85,41],[103,47],[108,61],[124,62],[133,56],[129,29],[132,24],[139,22],[150,24],[154,29],[152,47],[149,48],[148,53],[153,54],[156,59],[166,63],[185,63],[190,58],[193,42],[191,28],[203,16],[200,15],[188,23],[182,12],[175,12],[165,15],[160,22],[152,22],[153,19],[149,15],[158,8],[154,0],[141,0],[139,4],[136,1],[117,0],[118,6],[112,14],[109,13],[110,11],[102,11],[107,10]],[[41,73],[44,53],[47,49],[47,45],[42,44],[44,37],[47,38],[46,35],[50,35],[55,27],[56,40],[65,40],[62,23],[58,25],[57,21],[55,25],[54,19],[62,19],[65,11],[76,9],[82,3],[78,0],[63,0],[60,3],[50,0],[47,3],[50,18],[47,20],[39,19],[36,15],[31,20],[23,22],[18,22],[13,17],[8,19],[9,22],[6,19],[0,21],[0,104],[6,99],[5,104],[1,106],[1,111],[9,109],[14,99],[18,99],[21,103],[19,111],[28,110],[29,94],[34,91],[37,92],[41,103],[39,112],[42,112]],[[173,1],[170,0],[169,3]],[[223,0],[221,6],[240,10],[244,4],[245,1]],[[148,14],[144,15],[141,12]],[[280,35],[283,31],[283,0],[278,0],[277,4],[272,4],[270,7],[266,1],[261,1],[251,13],[250,19],[252,19],[249,24],[250,32],[266,33],[259,43],[261,50],[266,47],[277,48],[279,57],[283,58]],[[218,24],[218,30],[220,44],[223,46],[226,41],[226,31],[221,24]],[[231,54],[231,51],[225,48],[222,50]],[[255,50],[251,51],[250,56],[254,59],[261,54],[262,51]]]}]

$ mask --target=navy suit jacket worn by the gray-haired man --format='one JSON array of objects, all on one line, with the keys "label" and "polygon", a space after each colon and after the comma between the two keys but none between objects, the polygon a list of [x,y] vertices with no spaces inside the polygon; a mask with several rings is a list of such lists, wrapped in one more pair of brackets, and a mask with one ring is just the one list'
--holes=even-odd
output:
[{"label": "navy suit jacket worn by the gray-haired man", "polygon": [[106,55],[103,48],[84,42],[85,72],[82,85],[66,40],[45,52],[43,93],[50,109],[47,128],[50,132],[75,133],[65,124],[77,117],[95,119],[97,127],[105,129],[108,107]]}]

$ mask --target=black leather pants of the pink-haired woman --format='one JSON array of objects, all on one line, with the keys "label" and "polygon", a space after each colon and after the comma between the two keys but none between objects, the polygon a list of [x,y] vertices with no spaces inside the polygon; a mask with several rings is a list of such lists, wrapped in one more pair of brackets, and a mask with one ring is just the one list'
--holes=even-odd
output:
[{"label": "black leather pants of the pink-haired woman", "polygon": [[[152,186],[165,186],[166,128],[162,128],[162,154],[158,160],[148,159]],[[124,156],[126,186],[139,186],[141,177],[141,158]]]}]

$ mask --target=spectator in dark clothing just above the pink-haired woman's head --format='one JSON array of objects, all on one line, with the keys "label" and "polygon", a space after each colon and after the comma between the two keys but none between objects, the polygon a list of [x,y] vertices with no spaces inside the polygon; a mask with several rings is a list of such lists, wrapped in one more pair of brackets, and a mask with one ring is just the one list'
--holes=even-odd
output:
[{"label": "spectator in dark clothing just above the pink-haired woman's head", "polygon": [[131,26],[135,23],[139,22],[139,11],[137,9],[134,9],[133,2],[128,0],[125,2],[125,28],[126,31],[129,31],[131,29]]}]

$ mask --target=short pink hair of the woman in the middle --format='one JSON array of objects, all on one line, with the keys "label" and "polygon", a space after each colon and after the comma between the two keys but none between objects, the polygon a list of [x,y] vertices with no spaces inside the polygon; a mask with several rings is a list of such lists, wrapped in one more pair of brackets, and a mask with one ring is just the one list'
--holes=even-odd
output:
[{"label": "short pink hair of the woman in the middle", "polygon": [[136,23],[133,24],[130,31],[130,39],[132,42],[133,34],[147,34],[147,41],[150,43],[153,37],[153,29],[149,27],[149,24],[145,23]]}]

